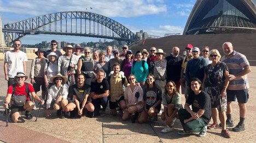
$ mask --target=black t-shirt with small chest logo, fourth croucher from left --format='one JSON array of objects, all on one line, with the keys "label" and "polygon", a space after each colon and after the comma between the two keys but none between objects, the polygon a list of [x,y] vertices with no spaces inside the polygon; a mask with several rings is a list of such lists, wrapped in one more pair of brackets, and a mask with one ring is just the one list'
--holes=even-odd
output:
[{"label": "black t-shirt with small chest logo, fourth croucher from left", "polygon": [[95,82],[91,82],[91,92],[95,94],[104,94],[106,90],[109,90],[108,81],[103,79],[101,83],[98,83],[97,80]]}]

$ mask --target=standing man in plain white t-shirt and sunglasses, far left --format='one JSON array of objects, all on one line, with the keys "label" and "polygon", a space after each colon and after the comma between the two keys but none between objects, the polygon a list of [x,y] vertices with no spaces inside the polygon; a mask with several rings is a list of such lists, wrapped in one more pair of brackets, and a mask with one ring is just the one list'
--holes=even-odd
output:
[{"label": "standing man in plain white t-shirt and sunglasses, far left", "polygon": [[4,55],[4,75],[8,81],[8,87],[14,84],[14,77],[18,71],[26,73],[26,53],[20,51],[21,41],[16,39],[13,42],[14,49],[7,51]]}]

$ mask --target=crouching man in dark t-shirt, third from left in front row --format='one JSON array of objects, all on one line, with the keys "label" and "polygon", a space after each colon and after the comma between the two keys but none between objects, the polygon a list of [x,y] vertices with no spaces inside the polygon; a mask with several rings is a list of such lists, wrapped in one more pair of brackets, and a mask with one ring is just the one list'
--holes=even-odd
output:
[{"label": "crouching man in dark t-shirt, third from left in front row", "polygon": [[84,74],[78,74],[77,83],[72,85],[69,89],[69,95],[72,96],[74,102],[68,103],[65,111],[77,111],[77,114],[81,116],[85,114],[87,110],[86,116],[93,117],[94,105],[91,103],[91,88],[88,84],[85,84],[84,81]]}]

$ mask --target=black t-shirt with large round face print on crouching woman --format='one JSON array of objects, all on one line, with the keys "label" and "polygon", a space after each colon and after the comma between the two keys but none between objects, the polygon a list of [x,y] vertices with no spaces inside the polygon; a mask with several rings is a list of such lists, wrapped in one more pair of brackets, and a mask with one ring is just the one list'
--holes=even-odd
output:
[{"label": "black t-shirt with large round face print on crouching woman", "polygon": [[[156,86],[145,89],[143,93],[143,100],[146,102],[147,109],[152,107],[159,100],[162,100],[162,91]],[[156,109],[161,109],[161,104],[159,104]]]}]

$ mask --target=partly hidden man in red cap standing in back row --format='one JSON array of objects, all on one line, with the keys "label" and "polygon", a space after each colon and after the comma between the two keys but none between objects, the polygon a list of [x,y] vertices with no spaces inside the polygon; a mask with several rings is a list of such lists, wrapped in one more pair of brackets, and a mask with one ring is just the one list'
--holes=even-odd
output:
[{"label": "partly hidden man in red cap standing in back row", "polygon": [[185,83],[185,73],[186,73],[186,67],[187,67],[188,61],[193,59],[192,49],[193,49],[193,45],[191,45],[190,43],[185,46],[186,57],[182,61],[182,70],[181,70],[180,81],[181,81],[181,87],[182,87],[182,94],[185,95],[186,100],[188,98],[188,93],[186,90],[187,83]]}]

